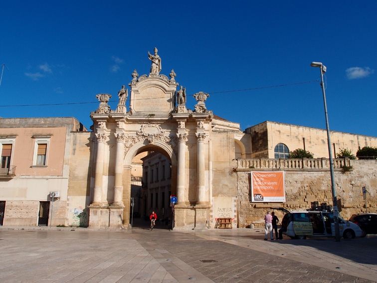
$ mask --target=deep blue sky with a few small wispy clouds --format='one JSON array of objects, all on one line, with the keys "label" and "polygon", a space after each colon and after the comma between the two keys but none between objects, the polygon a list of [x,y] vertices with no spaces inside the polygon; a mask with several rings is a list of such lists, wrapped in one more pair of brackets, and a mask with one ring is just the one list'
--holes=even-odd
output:
[{"label": "deep blue sky with a few small wispy clouds", "polygon": [[161,74],[174,69],[188,95],[209,93],[207,109],[241,129],[324,129],[321,86],[310,82],[320,79],[310,63],[323,62],[330,129],[377,136],[377,1],[4,0],[0,11],[3,118],[75,117],[89,128],[96,94],[112,94],[115,109],[157,47]]}]

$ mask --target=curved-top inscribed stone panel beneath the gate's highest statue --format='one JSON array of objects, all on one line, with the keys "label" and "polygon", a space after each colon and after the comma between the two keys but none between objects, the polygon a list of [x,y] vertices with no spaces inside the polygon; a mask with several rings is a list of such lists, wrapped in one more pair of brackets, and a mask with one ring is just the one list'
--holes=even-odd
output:
[{"label": "curved-top inscribed stone panel beneath the gate's highest statue", "polygon": [[131,115],[166,116],[175,110],[178,83],[165,75],[142,75],[130,84]]}]

